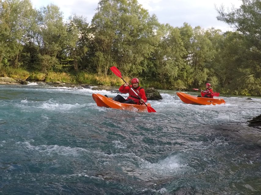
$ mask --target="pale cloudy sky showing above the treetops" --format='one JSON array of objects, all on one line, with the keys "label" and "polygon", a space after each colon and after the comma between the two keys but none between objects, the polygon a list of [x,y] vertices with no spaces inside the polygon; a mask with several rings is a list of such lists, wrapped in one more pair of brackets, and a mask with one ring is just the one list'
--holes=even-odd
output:
[{"label": "pale cloudy sky showing above the treetops", "polygon": [[[50,3],[58,5],[63,12],[64,19],[71,14],[83,15],[91,22],[99,0],[31,0],[33,7],[39,9]],[[214,27],[223,32],[232,30],[226,23],[216,19],[218,15],[215,5],[239,8],[241,0],[138,0],[150,15],[155,14],[160,23],[169,23],[173,27],[181,27],[187,22],[192,27],[200,26],[204,29]]]}]

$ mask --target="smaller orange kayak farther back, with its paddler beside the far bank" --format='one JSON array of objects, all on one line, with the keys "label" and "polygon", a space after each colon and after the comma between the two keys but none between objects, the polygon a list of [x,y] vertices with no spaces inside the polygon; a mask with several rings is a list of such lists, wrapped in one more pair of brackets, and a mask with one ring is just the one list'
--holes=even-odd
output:
[{"label": "smaller orange kayak farther back, with its paddler beside the far bank", "polygon": [[215,99],[215,98],[202,98],[202,97],[195,97],[189,94],[177,92],[178,97],[181,101],[187,104],[196,104],[196,105],[216,105],[216,104],[225,104],[225,100],[222,98]]}]

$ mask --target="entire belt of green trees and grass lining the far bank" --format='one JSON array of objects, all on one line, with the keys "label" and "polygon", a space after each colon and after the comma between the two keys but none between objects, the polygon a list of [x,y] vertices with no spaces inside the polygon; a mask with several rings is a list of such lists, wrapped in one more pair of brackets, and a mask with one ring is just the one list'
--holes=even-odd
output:
[{"label": "entire belt of green trees and grass lining the far bank", "polygon": [[261,95],[261,1],[216,8],[234,32],[160,24],[137,0],[100,0],[91,23],[63,20],[53,4],[34,9],[29,0],[0,1],[0,73],[47,82],[122,84],[138,77],[144,87],[204,88]]}]

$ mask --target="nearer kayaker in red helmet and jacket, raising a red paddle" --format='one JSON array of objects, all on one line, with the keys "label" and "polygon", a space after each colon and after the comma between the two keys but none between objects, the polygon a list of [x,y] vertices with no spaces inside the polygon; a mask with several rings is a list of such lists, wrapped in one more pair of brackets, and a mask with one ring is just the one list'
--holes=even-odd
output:
[{"label": "nearer kayaker in red helmet and jacket, raising a red paddle", "polygon": [[141,99],[138,98],[138,96],[131,90],[131,88],[128,86],[129,83],[125,83],[119,88],[119,91],[123,94],[129,93],[129,97],[127,99],[123,98],[121,95],[117,95],[113,98],[114,101],[118,101],[125,104],[138,104],[142,105],[143,102],[147,102],[147,97],[145,94],[145,91],[142,87],[139,86],[139,79],[133,78],[131,80],[132,89],[140,96]]}]

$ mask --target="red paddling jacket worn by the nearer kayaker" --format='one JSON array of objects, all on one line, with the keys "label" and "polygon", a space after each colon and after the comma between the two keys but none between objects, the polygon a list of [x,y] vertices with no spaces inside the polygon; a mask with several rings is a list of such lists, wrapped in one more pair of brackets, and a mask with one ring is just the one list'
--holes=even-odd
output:
[{"label": "red paddling jacket worn by the nearer kayaker", "polygon": [[[137,89],[134,89],[132,87],[132,85],[130,85],[130,87],[140,96],[141,99],[143,99],[145,101],[145,103],[147,102],[147,97],[146,97],[145,91],[142,87],[139,86]],[[121,85],[121,87],[119,88],[119,91],[123,94],[129,93],[129,97],[127,98],[127,100],[132,99],[133,101],[136,102],[136,104],[140,105],[140,99],[131,90],[131,88],[129,88],[129,86],[125,87],[124,85]]]}]

